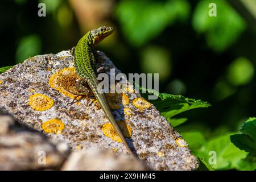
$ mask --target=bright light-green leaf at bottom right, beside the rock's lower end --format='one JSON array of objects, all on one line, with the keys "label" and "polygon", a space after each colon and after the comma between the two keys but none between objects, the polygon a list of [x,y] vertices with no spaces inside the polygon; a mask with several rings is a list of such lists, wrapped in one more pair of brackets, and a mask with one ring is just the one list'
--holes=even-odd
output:
[{"label": "bright light-green leaf at bottom right, beside the rock's lower end", "polygon": [[[211,152],[216,154],[216,163],[211,164],[214,169],[234,169],[237,163],[246,158],[247,152],[239,150],[232,142],[230,142],[230,135],[210,139],[205,143],[197,152],[197,156],[203,158],[206,162],[213,159],[214,156]],[[212,160],[210,160],[212,162]]]}]

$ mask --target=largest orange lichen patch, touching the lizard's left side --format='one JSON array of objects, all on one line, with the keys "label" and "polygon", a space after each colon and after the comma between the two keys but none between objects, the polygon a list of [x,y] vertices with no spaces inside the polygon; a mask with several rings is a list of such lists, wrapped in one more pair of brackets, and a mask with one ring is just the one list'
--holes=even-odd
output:
[{"label": "largest orange lichen patch, touching the lizard's left side", "polygon": [[80,100],[81,96],[77,97],[76,93],[76,80],[79,79],[75,68],[63,68],[61,71],[53,73],[49,78],[49,85],[55,90],[59,90],[65,96],[73,99]]}]

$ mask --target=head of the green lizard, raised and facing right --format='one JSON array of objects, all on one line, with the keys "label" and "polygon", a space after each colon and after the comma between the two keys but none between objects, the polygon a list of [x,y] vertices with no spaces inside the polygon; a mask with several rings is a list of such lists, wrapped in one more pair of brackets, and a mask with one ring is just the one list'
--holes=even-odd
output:
[{"label": "head of the green lizard, raised and facing right", "polygon": [[112,34],[113,31],[112,27],[100,27],[90,31],[93,36],[93,45],[96,46],[101,40]]}]

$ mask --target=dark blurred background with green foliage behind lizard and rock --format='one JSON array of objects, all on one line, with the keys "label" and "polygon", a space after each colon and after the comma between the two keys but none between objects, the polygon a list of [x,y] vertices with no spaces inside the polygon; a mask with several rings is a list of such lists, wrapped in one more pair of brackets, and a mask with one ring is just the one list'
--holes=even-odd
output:
[{"label": "dark blurred background with green foliage behind lizard and rock", "polygon": [[123,73],[159,73],[159,92],[212,104],[185,112],[187,129],[209,137],[255,116],[255,0],[8,0],[0,14],[0,67],[70,49],[87,31],[112,26],[97,49]]}]

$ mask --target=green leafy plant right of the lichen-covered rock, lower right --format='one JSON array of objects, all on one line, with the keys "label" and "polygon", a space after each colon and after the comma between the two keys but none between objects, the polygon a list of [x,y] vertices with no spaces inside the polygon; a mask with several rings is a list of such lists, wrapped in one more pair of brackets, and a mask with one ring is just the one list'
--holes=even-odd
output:
[{"label": "green leafy plant right of the lichen-covered rock, lower right", "polygon": [[253,155],[256,151],[256,118],[250,118],[246,121],[241,129],[243,134],[234,135],[234,133],[226,132],[207,139],[205,129],[200,130],[197,126],[187,126],[189,129],[186,130],[186,127],[180,127],[179,125],[187,121],[187,118],[177,119],[172,117],[187,110],[209,107],[208,102],[159,93],[152,89],[145,89],[142,86],[139,86],[139,89],[147,92],[144,95],[142,94],[145,98],[148,94],[155,94],[159,97],[157,100],[149,101],[156,106],[160,113],[171,123],[172,127],[176,127],[176,130],[187,141],[192,154],[199,159],[199,170],[255,169],[256,158]]}]

